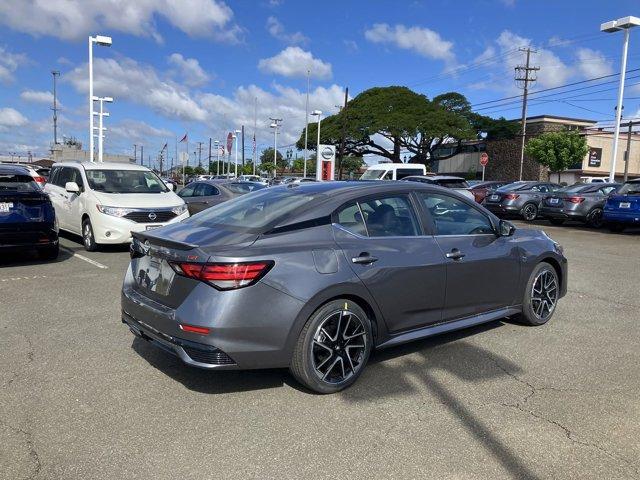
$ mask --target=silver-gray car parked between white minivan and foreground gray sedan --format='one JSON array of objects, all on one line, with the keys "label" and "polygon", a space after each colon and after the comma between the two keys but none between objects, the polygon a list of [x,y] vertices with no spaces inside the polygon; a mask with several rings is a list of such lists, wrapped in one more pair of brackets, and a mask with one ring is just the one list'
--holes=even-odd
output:
[{"label": "silver-gray car parked between white minivan and foreground gray sedan", "polygon": [[194,215],[234,197],[263,188],[266,188],[266,185],[256,182],[208,180],[190,183],[178,192],[178,196],[187,204],[189,214]]}]

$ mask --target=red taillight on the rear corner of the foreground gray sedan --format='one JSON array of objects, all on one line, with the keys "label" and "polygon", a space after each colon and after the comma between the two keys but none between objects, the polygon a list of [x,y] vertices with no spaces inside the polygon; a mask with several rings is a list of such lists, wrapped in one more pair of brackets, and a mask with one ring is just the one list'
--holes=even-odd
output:
[{"label": "red taillight on the rear corner of the foreground gray sedan", "polygon": [[218,290],[248,287],[260,280],[273,266],[272,261],[240,263],[171,263],[178,274],[206,282]]}]

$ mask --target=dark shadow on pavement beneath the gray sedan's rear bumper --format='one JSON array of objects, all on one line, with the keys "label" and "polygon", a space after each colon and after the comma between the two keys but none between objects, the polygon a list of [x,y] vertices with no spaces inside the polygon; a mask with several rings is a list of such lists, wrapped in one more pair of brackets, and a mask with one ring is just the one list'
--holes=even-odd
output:
[{"label": "dark shadow on pavement beneath the gray sedan's rear bumper", "polygon": [[212,395],[282,387],[289,380],[285,369],[211,371],[190,367],[150,344],[134,338],[131,348],[152,367],[182,383],[189,390]]}]

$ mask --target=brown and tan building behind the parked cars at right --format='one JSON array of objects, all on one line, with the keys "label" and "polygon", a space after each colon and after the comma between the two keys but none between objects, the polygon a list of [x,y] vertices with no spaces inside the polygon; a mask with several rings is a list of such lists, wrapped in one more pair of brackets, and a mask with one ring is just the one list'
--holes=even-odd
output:
[{"label": "brown and tan building behind the parked cars at right", "polygon": [[[624,125],[624,120],[623,120]],[[607,177],[611,168],[611,152],[613,149],[613,132],[597,127],[594,120],[558,117],[554,115],[538,115],[527,118],[527,139],[542,133],[566,130],[577,130],[584,135],[589,152],[581,162],[558,174],[550,174],[535,160],[525,155],[523,179],[551,180],[572,184],[581,177]],[[622,180],[627,157],[628,132],[620,133],[618,156],[616,161],[616,180]],[[640,178],[640,132],[632,132],[630,139],[630,155],[628,165],[629,178]],[[485,169],[486,180],[517,180],[520,174],[521,137],[504,140],[476,140],[464,142],[459,147],[443,145],[435,153],[436,162],[432,170],[439,174],[482,176],[480,156],[486,152],[489,164]],[[438,157],[444,157],[437,160]],[[448,157],[448,158],[447,158]]]}]

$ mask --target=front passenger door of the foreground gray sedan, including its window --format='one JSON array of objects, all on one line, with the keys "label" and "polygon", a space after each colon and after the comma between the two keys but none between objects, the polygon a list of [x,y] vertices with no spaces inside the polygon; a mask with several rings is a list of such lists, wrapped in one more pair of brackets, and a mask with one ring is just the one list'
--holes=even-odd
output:
[{"label": "front passenger door of the foreground gray sedan, including its window", "polygon": [[520,250],[512,237],[497,236],[489,217],[471,202],[440,192],[417,195],[446,263],[443,320],[517,302]]}]

